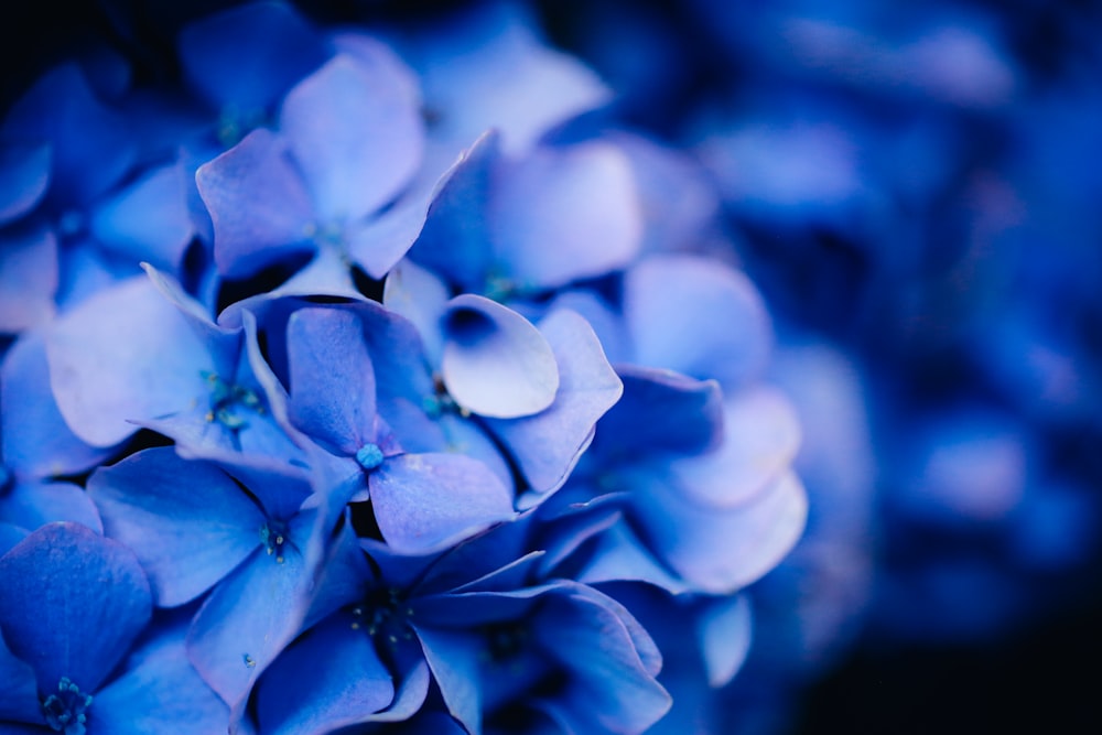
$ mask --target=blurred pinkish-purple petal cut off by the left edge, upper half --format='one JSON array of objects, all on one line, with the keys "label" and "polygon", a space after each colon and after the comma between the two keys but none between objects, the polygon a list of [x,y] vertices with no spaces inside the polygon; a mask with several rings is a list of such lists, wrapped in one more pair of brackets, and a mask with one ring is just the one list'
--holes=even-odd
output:
[{"label": "blurred pinkish-purple petal cut off by the left edge, upper half", "polygon": [[0,230],[0,334],[17,334],[53,318],[57,268],[57,240],[51,230]]}]

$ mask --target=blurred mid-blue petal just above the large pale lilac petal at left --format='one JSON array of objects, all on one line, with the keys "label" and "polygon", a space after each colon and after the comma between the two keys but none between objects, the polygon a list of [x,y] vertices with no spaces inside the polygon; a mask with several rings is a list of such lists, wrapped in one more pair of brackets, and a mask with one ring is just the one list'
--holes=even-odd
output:
[{"label": "blurred mid-blue petal just above the large pale lilac petal at left", "polygon": [[179,272],[195,236],[183,165],[154,169],[99,206],[91,233],[112,252]]}]

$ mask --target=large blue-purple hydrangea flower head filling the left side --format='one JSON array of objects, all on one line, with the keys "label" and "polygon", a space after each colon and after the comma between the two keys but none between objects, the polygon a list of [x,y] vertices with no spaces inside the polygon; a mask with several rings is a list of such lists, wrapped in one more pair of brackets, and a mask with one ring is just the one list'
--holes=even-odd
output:
[{"label": "large blue-purple hydrangea flower head filling the left side", "polygon": [[709,717],[807,501],[699,173],[509,6],[176,48],[0,125],[0,733]]}]

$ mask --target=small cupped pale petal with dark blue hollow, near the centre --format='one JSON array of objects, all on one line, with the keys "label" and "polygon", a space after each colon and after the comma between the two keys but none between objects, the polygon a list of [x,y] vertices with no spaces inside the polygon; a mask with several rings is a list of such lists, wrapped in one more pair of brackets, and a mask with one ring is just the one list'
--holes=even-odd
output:
[{"label": "small cupped pale petal with dark blue hollow, near the centre", "polygon": [[444,317],[447,392],[479,415],[515,419],[551,406],[559,390],[554,353],[539,331],[489,299],[452,299]]}]

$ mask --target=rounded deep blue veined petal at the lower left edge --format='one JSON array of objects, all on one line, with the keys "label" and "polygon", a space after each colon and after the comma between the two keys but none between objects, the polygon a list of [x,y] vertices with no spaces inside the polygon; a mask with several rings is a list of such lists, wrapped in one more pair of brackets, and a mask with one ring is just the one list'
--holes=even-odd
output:
[{"label": "rounded deep blue veined petal at the lower left edge", "polygon": [[98,689],[152,613],[134,555],[77,523],[43,526],[0,558],[0,630],[40,691],[63,677]]}]

